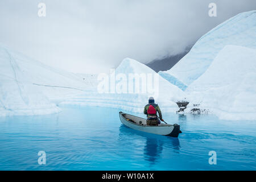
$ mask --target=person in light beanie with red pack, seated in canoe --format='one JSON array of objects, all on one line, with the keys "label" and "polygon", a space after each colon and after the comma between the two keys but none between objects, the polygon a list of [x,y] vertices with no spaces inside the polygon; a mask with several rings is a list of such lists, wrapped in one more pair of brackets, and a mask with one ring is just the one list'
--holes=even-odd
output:
[{"label": "person in light beanie with red pack, seated in canoe", "polygon": [[156,112],[158,112],[160,120],[164,121],[159,106],[155,104],[154,97],[150,97],[148,99],[148,104],[144,107],[144,114],[147,115],[147,125],[158,126],[159,120]]}]

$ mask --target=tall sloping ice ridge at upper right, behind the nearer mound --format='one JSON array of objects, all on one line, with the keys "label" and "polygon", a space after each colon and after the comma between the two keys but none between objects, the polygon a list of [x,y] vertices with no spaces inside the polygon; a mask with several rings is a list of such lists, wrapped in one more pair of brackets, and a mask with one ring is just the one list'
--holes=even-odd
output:
[{"label": "tall sloping ice ridge at upper right, behind the nearer mound", "polygon": [[238,14],[213,28],[174,67],[159,75],[184,90],[203,75],[227,45],[256,48],[256,10]]}]

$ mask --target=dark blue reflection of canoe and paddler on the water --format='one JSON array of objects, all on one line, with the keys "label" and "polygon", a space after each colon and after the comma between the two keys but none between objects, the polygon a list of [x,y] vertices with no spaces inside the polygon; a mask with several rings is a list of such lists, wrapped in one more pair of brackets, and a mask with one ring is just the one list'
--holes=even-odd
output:
[{"label": "dark blue reflection of canoe and paddler on the water", "polygon": [[180,142],[178,138],[144,133],[142,131],[130,129],[125,125],[121,125],[119,127],[119,131],[119,139],[122,139],[123,135],[125,135],[125,137],[129,136],[133,139],[146,139],[144,142],[144,159],[151,164],[155,164],[159,159],[161,159],[163,148],[173,149],[174,152],[179,153]]}]

